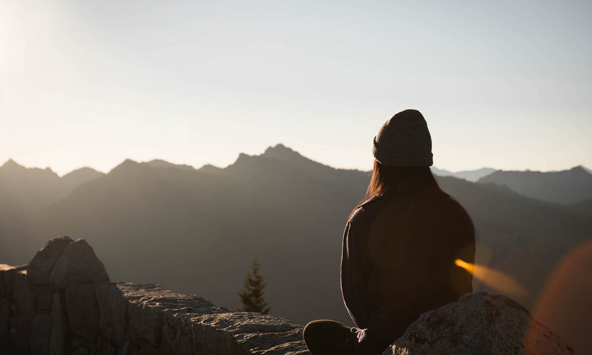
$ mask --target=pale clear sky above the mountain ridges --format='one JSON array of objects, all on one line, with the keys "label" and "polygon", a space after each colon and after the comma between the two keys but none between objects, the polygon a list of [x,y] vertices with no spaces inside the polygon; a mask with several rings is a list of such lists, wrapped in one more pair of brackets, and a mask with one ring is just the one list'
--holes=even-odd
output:
[{"label": "pale clear sky above the mountain ridges", "polygon": [[434,166],[592,167],[590,1],[0,1],[0,164],[370,170],[416,108]]}]

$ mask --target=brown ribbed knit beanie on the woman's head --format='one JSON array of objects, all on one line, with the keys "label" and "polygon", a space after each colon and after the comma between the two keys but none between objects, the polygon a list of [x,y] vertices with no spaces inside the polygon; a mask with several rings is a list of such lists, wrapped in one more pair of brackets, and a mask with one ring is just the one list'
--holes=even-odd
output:
[{"label": "brown ribbed knit beanie on the woman's head", "polygon": [[421,112],[406,109],[384,122],[372,154],[388,166],[432,166],[432,137]]}]

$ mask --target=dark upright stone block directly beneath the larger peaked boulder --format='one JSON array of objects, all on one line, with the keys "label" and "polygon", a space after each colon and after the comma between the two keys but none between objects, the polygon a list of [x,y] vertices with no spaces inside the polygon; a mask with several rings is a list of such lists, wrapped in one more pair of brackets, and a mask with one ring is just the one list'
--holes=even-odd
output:
[{"label": "dark upright stone block directly beneath the larger peaked boulder", "polygon": [[65,290],[65,301],[70,331],[94,343],[99,330],[95,286],[71,286]]}]

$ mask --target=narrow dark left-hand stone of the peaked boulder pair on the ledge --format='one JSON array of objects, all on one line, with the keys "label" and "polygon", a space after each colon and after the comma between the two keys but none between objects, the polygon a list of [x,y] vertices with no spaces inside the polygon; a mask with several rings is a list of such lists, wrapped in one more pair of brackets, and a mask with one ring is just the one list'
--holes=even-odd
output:
[{"label": "narrow dark left-hand stone of the peaked boulder pair on the ledge", "polygon": [[37,251],[27,269],[29,282],[40,285],[49,284],[49,275],[57,259],[70,243],[73,243],[70,237],[56,237],[50,239],[43,248]]}]

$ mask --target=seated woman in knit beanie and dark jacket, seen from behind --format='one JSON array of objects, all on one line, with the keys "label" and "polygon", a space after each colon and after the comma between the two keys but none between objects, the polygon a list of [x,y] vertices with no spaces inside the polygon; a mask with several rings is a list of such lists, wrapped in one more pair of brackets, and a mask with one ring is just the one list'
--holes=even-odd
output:
[{"label": "seated woman in knit beanie and dark jacket, seen from behind", "polygon": [[380,354],[417,320],[466,292],[475,229],[465,209],[432,175],[432,138],[423,115],[407,109],[374,137],[366,198],[343,234],[341,288],[356,327],[312,321],[303,331],[313,355]]}]

